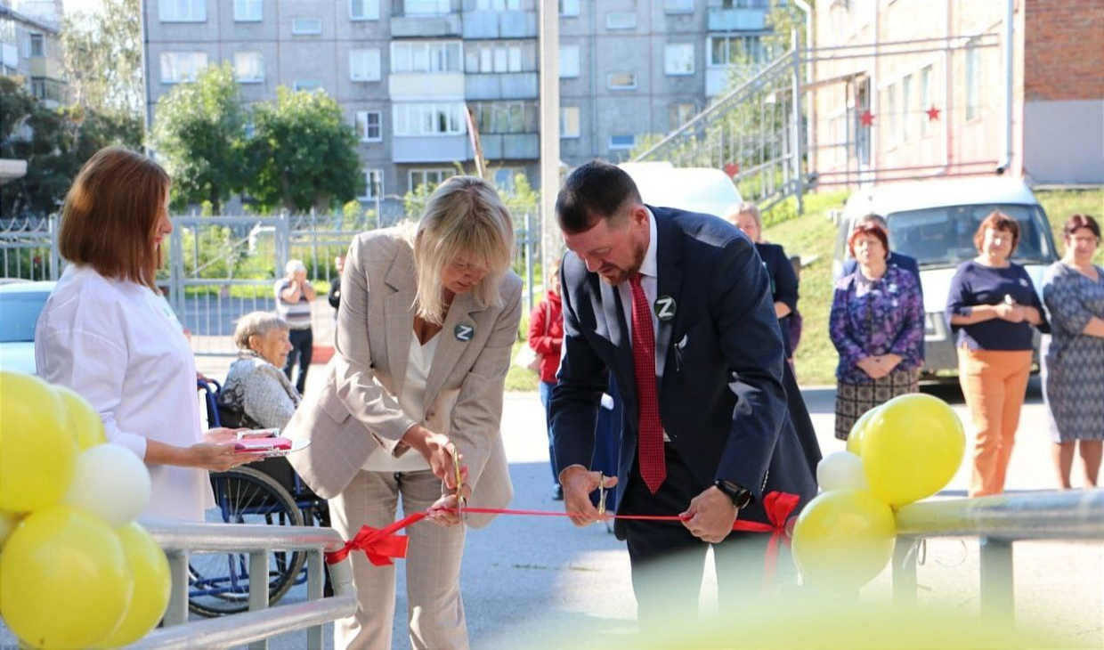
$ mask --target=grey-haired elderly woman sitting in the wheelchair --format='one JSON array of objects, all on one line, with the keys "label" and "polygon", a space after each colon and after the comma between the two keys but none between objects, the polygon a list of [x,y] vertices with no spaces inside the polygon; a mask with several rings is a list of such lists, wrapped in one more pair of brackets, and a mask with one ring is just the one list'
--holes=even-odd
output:
[{"label": "grey-haired elderly woman sitting in the wheelchair", "polygon": [[219,395],[223,426],[284,428],[301,397],[280,369],[291,351],[287,322],[267,311],[246,313],[234,329],[237,361]]}]

